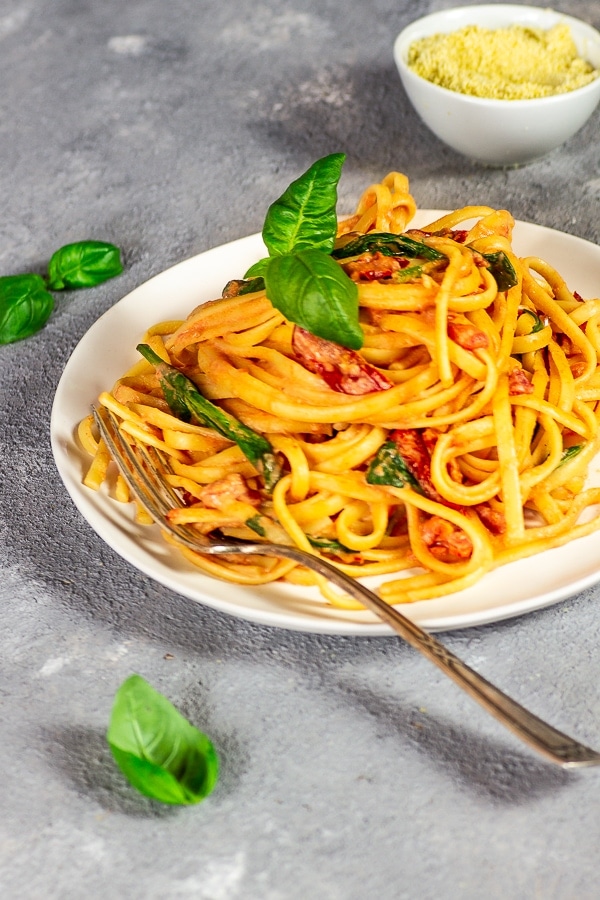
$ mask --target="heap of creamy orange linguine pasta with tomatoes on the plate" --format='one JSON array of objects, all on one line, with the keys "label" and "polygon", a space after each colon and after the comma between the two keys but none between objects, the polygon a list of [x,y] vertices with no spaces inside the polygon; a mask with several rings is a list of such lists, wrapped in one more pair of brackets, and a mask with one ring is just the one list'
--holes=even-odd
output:
[{"label": "heap of creamy orange linguine pasta with tomatoes on the plate", "polygon": [[[585,486],[598,449],[600,299],[518,258],[506,210],[467,206],[411,230],[415,211],[407,178],[391,173],[339,222],[333,256],[357,286],[360,351],[295,325],[249,280],[145,335],[268,440],[272,491],[239,444],[173,414],[146,359],[100,397],[124,433],[168,454],[174,521],[293,542],[378,576],[392,604],[461,590],[600,527],[600,489]],[[128,501],[91,417],[79,435],[93,456],[85,483],[108,480]],[[318,584],[329,603],[357,605],[290,561],[180,549],[214,577]]]}]

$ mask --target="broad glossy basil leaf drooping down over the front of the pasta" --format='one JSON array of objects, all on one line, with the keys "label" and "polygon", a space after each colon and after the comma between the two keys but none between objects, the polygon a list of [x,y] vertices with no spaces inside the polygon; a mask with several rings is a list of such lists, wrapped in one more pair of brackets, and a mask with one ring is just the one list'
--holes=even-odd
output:
[{"label": "broad glossy basil leaf drooping down over the front of the pasta", "polygon": [[276,256],[265,272],[265,287],[286,319],[351,350],[362,347],[358,288],[331,256],[312,249]]}]

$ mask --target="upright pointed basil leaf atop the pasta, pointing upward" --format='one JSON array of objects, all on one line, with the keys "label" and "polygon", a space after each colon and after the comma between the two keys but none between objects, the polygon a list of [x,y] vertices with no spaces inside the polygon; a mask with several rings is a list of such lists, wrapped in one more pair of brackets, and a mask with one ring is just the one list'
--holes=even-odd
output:
[{"label": "upright pointed basil leaf atop the pasta, pointing upward", "polygon": [[[318,159],[271,204],[263,226],[269,256],[297,250],[333,250],[337,233],[337,186],[346,155]],[[264,275],[264,272],[253,272]]]}]

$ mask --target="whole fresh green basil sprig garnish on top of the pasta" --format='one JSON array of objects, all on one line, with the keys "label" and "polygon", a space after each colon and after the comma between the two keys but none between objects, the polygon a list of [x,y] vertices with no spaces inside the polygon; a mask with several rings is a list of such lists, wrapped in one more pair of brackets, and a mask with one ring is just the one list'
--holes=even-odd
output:
[{"label": "whole fresh green basil sprig garnish on top of the pasta", "polygon": [[262,276],[267,297],[311,334],[360,350],[358,288],[331,257],[337,234],[337,186],[344,153],[318,159],[268,209],[263,240],[269,257],[246,278]]}]

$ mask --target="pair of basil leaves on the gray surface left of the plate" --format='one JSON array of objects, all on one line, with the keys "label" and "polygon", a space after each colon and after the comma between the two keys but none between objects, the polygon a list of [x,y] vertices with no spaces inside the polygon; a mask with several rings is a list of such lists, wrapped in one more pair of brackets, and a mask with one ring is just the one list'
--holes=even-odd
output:
[{"label": "pair of basil leaves on the gray surface left of the plate", "polygon": [[5,275],[0,278],[0,344],[12,344],[40,331],[54,309],[49,291],[93,287],[123,271],[120,251],[103,241],[79,241],[57,250],[48,277]]}]

